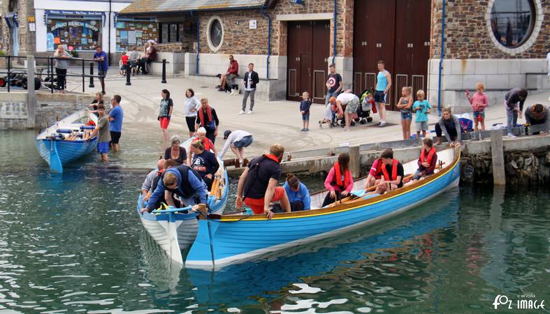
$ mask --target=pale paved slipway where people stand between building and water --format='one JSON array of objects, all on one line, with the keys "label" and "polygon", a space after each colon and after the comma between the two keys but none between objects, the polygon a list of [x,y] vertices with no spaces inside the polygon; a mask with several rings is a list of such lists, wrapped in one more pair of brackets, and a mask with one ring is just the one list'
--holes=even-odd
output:
[{"label": "pale paved slipway where people stand between building and water", "polygon": [[[184,93],[187,88],[194,89],[196,96],[200,99],[205,96],[210,100],[210,105],[217,111],[220,119],[219,135],[216,146],[221,149],[223,145],[224,130],[247,130],[254,135],[254,144],[247,149],[247,156],[261,154],[266,151],[270,144],[280,143],[287,151],[303,149],[314,149],[320,147],[335,147],[339,145],[353,145],[369,142],[386,142],[401,140],[400,114],[388,112],[386,121],[389,126],[377,127],[379,117],[374,115],[374,121],[367,125],[357,124],[352,127],[352,132],[346,133],[343,128],[328,128],[326,124],[319,128],[317,121],[321,119],[324,106],[312,105],[310,114],[310,131],[301,132],[301,114],[298,111],[299,103],[291,101],[266,102],[256,100],[254,114],[238,115],[242,103],[242,95],[230,96],[217,91],[212,86],[205,86],[201,82],[187,78],[168,78],[167,84],[161,84],[160,77],[140,76],[138,79],[132,77],[131,86],[126,86],[125,78],[118,77],[113,73],[106,80],[108,96],[120,94],[122,96],[122,107],[124,108],[124,126],[122,135],[122,149],[126,143],[136,142],[138,145],[130,145],[136,149],[149,149],[156,152],[164,151],[162,133],[157,121],[159,112],[159,101],[161,89],[168,89],[174,101],[174,113],[168,131],[171,134],[179,134],[184,139],[188,137],[187,125],[185,124],[183,112]],[[99,82],[96,88],[90,91],[99,91]],[[528,98],[528,104],[540,102],[549,105],[547,94],[538,94]],[[433,104],[437,107],[437,104]],[[414,117],[413,117],[414,119]],[[430,114],[430,125],[437,121],[437,109]],[[414,120],[413,120],[414,121]],[[506,114],[501,104],[491,104],[486,110],[486,126],[494,123],[505,123]],[[524,121],[521,119],[521,121]],[[433,129],[433,126],[430,126]],[[412,125],[412,132],[416,130]],[[134,151],[134,150],[133,150]],[[136,154],[141,152],[136,150]],[[128,152],[126,152],[128,154]],[[227,155],[226,155],[227,156]],[[229,156],[233,156],[229,151]],[[157,157],[158,158],[158,157]]]}]

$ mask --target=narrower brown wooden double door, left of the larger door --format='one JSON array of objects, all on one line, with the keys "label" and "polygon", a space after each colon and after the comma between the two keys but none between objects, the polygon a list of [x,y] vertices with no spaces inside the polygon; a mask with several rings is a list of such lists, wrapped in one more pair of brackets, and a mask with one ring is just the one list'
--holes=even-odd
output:
[{"label": "narrower brown wooden double door, left of the larger door", "polygon": [[289,22],[288,100],[299,101],[302,93],[307,91],[314,103],[324,103],[329,36],[328,21]]}]

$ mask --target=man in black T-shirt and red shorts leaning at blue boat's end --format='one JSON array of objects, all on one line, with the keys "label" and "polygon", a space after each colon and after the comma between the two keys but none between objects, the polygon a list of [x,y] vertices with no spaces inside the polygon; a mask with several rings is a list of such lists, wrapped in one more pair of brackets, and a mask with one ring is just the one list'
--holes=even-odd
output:
[{"label": "man in black T-shirt and red shorts leaning at blue boat's end", "polygon": [[269,154],[263,154],[250,161],[237,185],[237,209],[243,208],[243,202],[250,207],[254,214],[266,214],[268,219],[273,217],[269,209],[270,202],[280,201],[284,211],[290,211],[290,202],[282,186],[277,186],[281,178],[279,163],[284,155],[284,147],[273,144]]}]

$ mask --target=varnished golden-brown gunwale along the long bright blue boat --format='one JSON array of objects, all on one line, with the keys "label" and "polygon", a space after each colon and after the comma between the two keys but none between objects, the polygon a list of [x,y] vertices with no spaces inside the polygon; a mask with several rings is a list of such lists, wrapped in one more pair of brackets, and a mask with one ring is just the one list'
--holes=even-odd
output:
[{"label": "varnished golden-brown gunwale along the long bright blue boat", "polygon": [[[332,206],[332,207],[310,209],[307,211],[292,211],[290,213],[277,213],[270,220],[284,220],[284,219],[292,219],[292,218],[305,218],[305,217],[311,217],[311,216],[325,216],[329,214],[340,213],[342,211],[350,211],[353,209],[357,209],[359,207],[366,207],[368,205],[389,200],[393,197],[397,197],[399,195],[409,193],[412,190],[416,190],[417,188],[426,186],[427,184],[430,184],[431,182],[439,179],[440,177],[443,177],[445,174],[449,173],[451,170],[453,170],[456,167],[456,165],[461,160],[461,156],[462,156],[461,149],[458,149],[458,153],[455,149],[453,162],[450,165],[447,165],[447,167],[444,167],[440,172],[437,172],[437,174],[430,175],[426,177],[426,179],[417,181],[414,184],[411,184],[410,186],[403,186],[402,188],[391,190],[387,193],[384,193],[384,195],[377,195],[375,197],[370,197],[366,200],[357,200],[356,202],[353,203],[352,207],[350,207],[349,204],[343,203],[343,204],[336,204],[335,206]],[[318,193],[323,193],[323,192],[326,192],[326,191],[321,191]],[[264,214],[254,214],[249,216],[243,216],[243,214],[226,214],[226,215],[217,215],[216,218],[211,218],[210,220],[221,223],[221,222],[235,222],[240,220],[262,221],[262,220],[269,220],[269,219],[266,218]]]}]

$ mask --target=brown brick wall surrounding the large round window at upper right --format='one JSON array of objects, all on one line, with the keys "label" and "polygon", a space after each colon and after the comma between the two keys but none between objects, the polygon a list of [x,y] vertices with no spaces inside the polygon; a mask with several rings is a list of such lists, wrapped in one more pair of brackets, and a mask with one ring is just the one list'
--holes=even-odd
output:
[{"label": "brown brick wall surrounding the large round window at upper right", "polygon": [[[543,12],[536,17],[542,27],[530,47],[521,53],[510,54],[498,49],[491,40],[486,13],[493,0],[446,1],[445,58],[446,59],[544,59],[550,51],[550,0],[535,0]],[[441,53],[442,0],[433,0],[431,52],[432,58]]]}]

